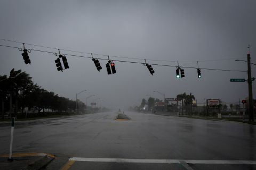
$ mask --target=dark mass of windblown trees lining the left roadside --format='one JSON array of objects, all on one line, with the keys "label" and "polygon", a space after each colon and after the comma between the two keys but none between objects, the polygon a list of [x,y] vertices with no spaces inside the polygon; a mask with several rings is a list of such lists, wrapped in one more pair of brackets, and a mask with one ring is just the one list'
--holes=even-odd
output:
[{"label": "dark mass of windblown trees lining the left roadside", "polygon": [[[8,106],[10,116],[13,113],[16,115],[18,111],[23,113],[25,107],[36,108],[38,112],[51,111],[66,112],[75,110],[76,101],[69,100],[65,97],[59,97],[52,91],[42,89],[37,84],[34,84],[29,77],[29,74],[22,72],[21,70],[10,72],[10,77],[7,75],[0,75],[0,99],[1,99],[1,111],[2,118]],[[14,107],[13,107],[14,106]],[[85,107],[85,104],[80,101],[79,106],[81,110]]]}]

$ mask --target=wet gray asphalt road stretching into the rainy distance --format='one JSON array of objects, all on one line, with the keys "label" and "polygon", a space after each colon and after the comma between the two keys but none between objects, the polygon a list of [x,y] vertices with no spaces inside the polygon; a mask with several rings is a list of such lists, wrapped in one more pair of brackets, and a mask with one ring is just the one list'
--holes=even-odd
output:
[{"label": "wet gray asphalt road stretching into the rainy distance", "polygon": [[[185,117],[114,112],[17,121],[13,152],[49,152],[67,158],[256,160],[256,126]],[[10,123],[0,122],[0,154],[9,153]],[[185,163],[186,164],[186,163]],[[241,164],[75,162],[70,169],[256,169]]]}]

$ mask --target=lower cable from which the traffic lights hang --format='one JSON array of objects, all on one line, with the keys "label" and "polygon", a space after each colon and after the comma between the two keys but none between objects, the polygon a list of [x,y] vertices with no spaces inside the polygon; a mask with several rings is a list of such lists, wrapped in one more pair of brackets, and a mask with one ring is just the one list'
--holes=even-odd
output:
[{"label": "lower cable from which the traffic lights hang", "polygon": [[[11,48],[18,48],[19,47],[13,47],[13,46],[5,46],[5,45],[0,45],[3,47],[11,47]],[[36,51],[36,52],[43,52],[43,53],[52,53],[55,56],[57,56],[57,53],[54,52],[49,52],[46,50],[38,50],[38,49],[30,49],[31,51]],[[74,54],[63,54],[63,55],[67,55],[67,56],[74,56],[74,57],[83,57],[83,58],[92,58],[92,57],[87,57],[87,56],[81,56],[81,55],[74,55]],[[106,58],[97,58],[99,60],[106,60],[108,61],[109,59]],[[137,64],[146,64],[146,63],[142,63],[142,62],[131,62],[131,61],[123,61],[123,60],[111,60],[111,61],[116,61],[116,62],[124,62],[124,63],[137,63]],[[165,64],[154,64],[154,63],[147,63],[150,65],[156,65],[156,66],[169,66],[169,67],[177,67],[177,65],[165,65]],[[181,66],[180,66],[181,67]],[[188,66],[182,66],[182,68],[187,68],[187,69],[198,69],[198,67],[188,67]],[[214,70],[214,71],[230,71],[230,72],[247,72],[247,71],[242,71],[242,70],[225,70],[225,69],[209,69],[209,68],[199,68],[202,70]]]}]

